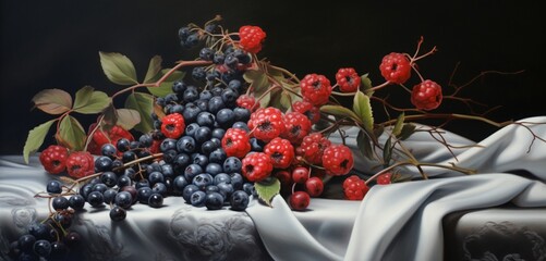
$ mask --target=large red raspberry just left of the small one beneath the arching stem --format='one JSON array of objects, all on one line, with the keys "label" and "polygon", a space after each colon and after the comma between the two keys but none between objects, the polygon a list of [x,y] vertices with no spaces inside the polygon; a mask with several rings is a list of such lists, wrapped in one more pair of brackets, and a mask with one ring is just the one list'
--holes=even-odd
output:
[{"label": "large red raspberry just left of the small one beneath the arching stem", "polygon": [[303,98],[317,107],[328,102],[331,95],[330,80],[324,75],[307,74],[300,82],[300,86]]}]

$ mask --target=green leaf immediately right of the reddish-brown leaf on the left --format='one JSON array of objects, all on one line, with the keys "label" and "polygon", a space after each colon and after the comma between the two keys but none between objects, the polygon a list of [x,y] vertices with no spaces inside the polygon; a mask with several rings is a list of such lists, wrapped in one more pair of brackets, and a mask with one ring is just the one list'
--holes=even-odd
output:
[{"label": "green leaf immediately right of the reddish-brown leaf on the left", "polygon": [[110,97],[102,91],[85,86],[76,92],[74,111],[83,114],[102,112],[111,103]]}]

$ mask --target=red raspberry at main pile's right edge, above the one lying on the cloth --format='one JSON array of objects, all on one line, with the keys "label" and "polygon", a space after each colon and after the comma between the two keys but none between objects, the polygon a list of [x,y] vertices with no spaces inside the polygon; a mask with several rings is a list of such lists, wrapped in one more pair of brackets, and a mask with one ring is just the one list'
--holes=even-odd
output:
[{"label": "red raspberry at main pile's right edge, above the one lying on the cloth", "polygon": [[344,175],[353,167],[353,153],[344,145],[330,145],[324,150],[323,166],[330,175]]}]

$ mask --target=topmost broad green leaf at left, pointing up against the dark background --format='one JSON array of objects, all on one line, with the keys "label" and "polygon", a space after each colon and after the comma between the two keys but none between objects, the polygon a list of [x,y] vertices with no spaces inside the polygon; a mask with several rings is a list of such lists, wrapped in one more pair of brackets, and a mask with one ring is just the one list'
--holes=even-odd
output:
[{"label": "topmost broad green leaf at left, pointing up against the dark background", "polygon": [[136,71],[128,57],[118,52],[99,52],[100,65],[110,82],[119,85],[137,84]]}]

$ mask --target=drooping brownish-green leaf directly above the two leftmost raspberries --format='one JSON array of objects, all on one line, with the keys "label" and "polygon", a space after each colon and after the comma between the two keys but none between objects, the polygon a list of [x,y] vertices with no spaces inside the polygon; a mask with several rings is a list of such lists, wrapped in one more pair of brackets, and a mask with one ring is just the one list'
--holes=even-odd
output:
[{"label": "drooping brownish-green leaf directly above the two leftmost raspberries", "polygon": [[56,136],[59,144],[70,150],[83,150],[86,137],[82,124],[75,117],[66,115],[61,120]]}]

